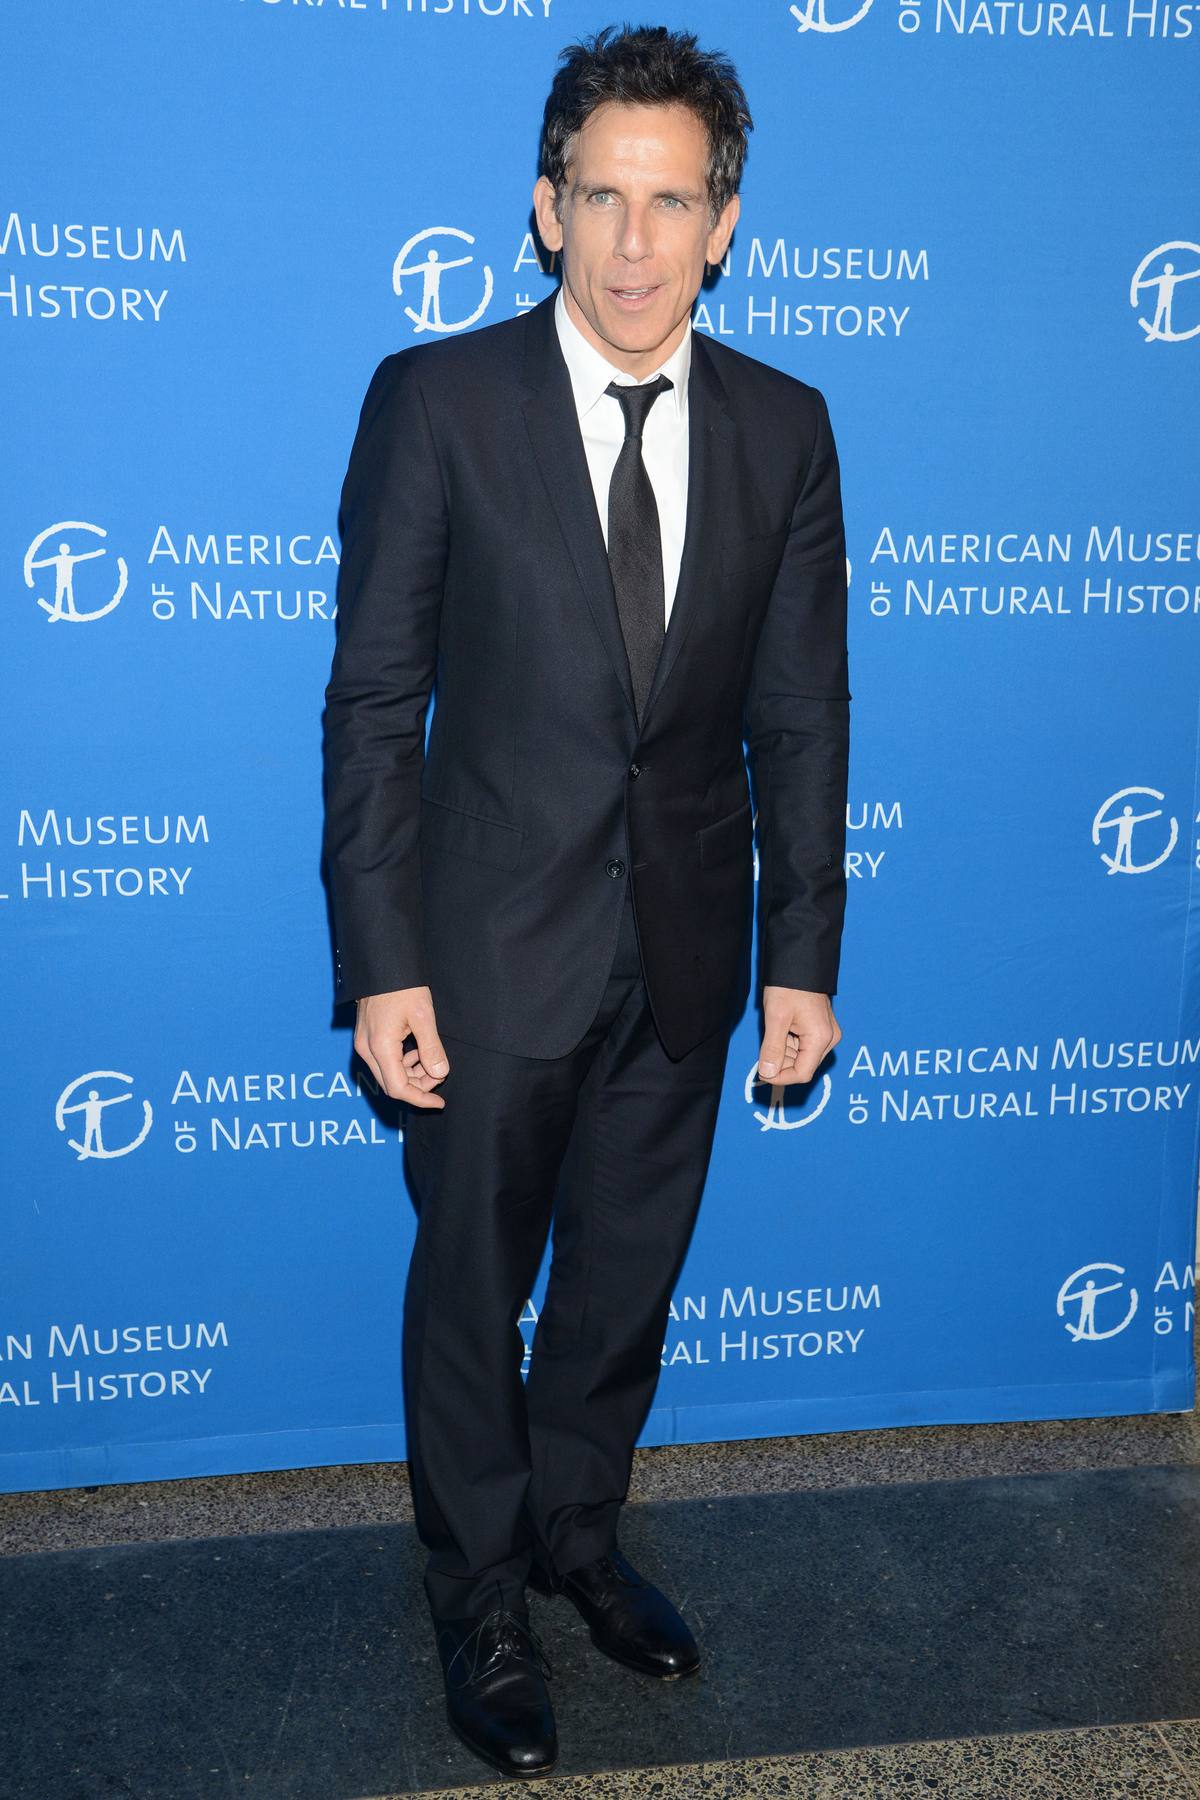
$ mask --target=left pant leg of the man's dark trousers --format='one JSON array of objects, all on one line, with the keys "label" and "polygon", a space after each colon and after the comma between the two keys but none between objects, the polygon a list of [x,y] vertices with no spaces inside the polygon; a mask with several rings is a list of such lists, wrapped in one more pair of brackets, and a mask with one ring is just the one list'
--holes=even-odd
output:
[{"label": "left pant leg of the man's dark trousers", "polygon": [[417,1237],[405,1294],[408,1472],[435,1616],[522,1606],[533,1546],[520,1312],[536,1280],[579,1089],[637,970],[626,904],[592,1026],[565,1057],[443,1037],[444,1109],[408,1109]]}]

